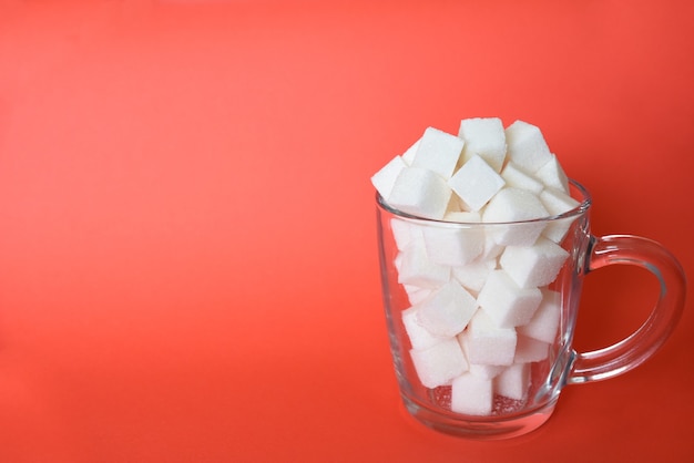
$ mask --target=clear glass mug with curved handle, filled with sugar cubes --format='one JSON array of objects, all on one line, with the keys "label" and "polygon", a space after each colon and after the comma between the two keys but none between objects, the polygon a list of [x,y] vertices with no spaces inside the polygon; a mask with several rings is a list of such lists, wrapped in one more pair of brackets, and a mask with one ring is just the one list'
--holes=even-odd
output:
[{"label": "clear glass mug with curved handle, filled with sugar cubes", "polygon": [[[525,434],[551,416],[564,385],[637,367],[674,329],[686,289],[677,260],[645,238],[591,235],[590,194],[574,181],[570,194],[579,205],[564,214],[499,224],[415,217],[377,194],[395,371],[408,412],[425,425],[469,439]],[[466,253],[474,259],[448,261]],[[660,298],[626,339],[576,352],[583,278],[613,264],[650,270]]]}]

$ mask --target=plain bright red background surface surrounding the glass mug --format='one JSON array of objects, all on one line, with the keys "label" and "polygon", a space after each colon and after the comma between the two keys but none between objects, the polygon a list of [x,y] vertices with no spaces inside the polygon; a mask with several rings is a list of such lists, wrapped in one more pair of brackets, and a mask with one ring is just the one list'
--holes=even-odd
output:
[{"label": "plain bright red background surface surrounding the glass mug", "polygon": [[[593,230],[694,275],[694,3],[0,2],[0,461],[687,461],[694,308],[535,433],[400,405],[370,175],[462,117],[542,127]],[[586,281],[578,349],[656,282]]]}]

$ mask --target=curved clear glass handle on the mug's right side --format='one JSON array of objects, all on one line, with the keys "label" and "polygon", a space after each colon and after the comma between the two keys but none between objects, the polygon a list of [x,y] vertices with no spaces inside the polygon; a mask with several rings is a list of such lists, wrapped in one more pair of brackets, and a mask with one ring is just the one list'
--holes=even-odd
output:
[{"label": "curved clear glass handle on the mug's right side", "polygon": [[591,237],[586,271],[635,265],[660,281],[660,296],[645,322],[631,336],[604,349],[575,354],[568,383],[604,380],[647,360],[665,342],[684,309],[686,279],[677,259],[659,243],[631,235]]}]

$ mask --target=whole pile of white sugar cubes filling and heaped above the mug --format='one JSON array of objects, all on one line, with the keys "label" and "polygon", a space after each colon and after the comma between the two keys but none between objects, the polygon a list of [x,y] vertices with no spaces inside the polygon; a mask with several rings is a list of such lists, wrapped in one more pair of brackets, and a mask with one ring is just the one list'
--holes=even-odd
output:
[{"label": "whole pile of white sugar cubes filling and heaped above the mug", "polygon": [[[497,117],[462,120],[457,136],[428,127],[371,182],[391,208],[433,219],[390,223],[421,384],[450,387],[450,409],[463,414],[497,413],[498,398],[522,403],[531,364],[558,336],[550,285],[569,257],[570,224],[533,219],[579,206],[541,131]],[[523,223],[483,226],[514,222]]]}]

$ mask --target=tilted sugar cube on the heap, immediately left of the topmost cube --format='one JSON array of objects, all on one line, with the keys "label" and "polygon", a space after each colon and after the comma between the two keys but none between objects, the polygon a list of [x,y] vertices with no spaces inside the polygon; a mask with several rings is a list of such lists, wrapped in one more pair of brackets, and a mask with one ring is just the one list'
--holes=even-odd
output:
[{"label": "tilted sugar cube on the heap, immediately left of the topmost cube", "polygon": [[419,140],[411,165],[435,172],[448,179],[458,165],[463,146],[462,138],[438,128],[427,127]]}]

